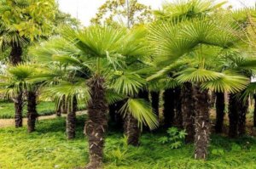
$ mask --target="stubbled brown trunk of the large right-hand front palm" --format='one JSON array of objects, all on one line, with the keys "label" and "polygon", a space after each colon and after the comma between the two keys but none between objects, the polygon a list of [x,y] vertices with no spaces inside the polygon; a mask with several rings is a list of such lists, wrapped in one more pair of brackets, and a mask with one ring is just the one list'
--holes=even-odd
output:
[{"label": "stubbled brown trunk of the large right-hand front palm", "polygon": [[206,159],[210,141],[209,97],[207,90],[195,86],[195,159]]}]

